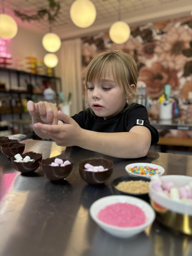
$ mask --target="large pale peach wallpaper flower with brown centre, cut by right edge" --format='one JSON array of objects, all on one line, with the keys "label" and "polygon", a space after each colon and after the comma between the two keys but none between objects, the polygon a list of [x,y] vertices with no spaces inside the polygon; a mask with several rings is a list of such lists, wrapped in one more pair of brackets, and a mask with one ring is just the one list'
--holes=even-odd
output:
[{"label": "large pale peach wallpaper flower with brown centre, cut by right edge", "polygon": [[190,48],[192,29],[189,26],[179,26],[179,23],[175,26],[169,23],[163,31],[167,32],[157,41],[154,49],[158,61],[166,68],[182,70],[184,64],[192,59],[183,55],[183,50]]}]

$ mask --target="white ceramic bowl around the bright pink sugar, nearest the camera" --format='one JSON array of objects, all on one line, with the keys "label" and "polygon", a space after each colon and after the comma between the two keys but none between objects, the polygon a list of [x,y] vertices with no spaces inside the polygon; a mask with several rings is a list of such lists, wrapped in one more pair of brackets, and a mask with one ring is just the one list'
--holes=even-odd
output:
[{"label": "white ceramic bowl around the bright pink sugar, nearest the camera", "polygon": [[[100,221],[98,219],[98,214],[101,209],[105,208],[108,205],[119,202],[134,204],[137,207],[140,207],[145,212],[145,223],[137,227],[117,227],[110,224],[106,224],[105,222]],[[101,227],[103,230],[110,233],[111,235],[120,238],[131,237],[143,232],[143,230],[145,230],[145,228],[147,228],[154,221],[155,218],[154,209],[150,206],[150,204],[148,204],[147,202],[143,201],[140,198],[128,195],[110,195],[98,199],[91,205],[90,215],[93,218],[93,220],[99,225],[99,227]]]}]

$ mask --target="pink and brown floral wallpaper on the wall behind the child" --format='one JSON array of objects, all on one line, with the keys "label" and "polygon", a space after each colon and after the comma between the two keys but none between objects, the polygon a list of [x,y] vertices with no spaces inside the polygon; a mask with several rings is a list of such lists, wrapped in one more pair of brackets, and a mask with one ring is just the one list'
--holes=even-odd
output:
[{"label": "pink and brown floral wallpaper on the wall behind the child", "polygon": [[[82,38],[82,74],[92,58],[109,50],[122,50],[135,58],[138,81],[145,82],[146,96],[151,98],[151,118],[158,117],[158,98],[164,85],[170,84],[178,117],[192,122],[192,16],[131,27],[124,44],[114,44],[108,33]],[[175,134],[169,131],[166,136]],[[183,132],[182,136],[192,137],[192,133]]]}]

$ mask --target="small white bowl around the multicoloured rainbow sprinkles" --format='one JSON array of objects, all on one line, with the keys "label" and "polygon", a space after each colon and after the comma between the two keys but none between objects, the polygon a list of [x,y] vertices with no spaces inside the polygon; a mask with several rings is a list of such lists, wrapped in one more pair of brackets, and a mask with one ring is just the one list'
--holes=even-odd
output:
[{"label": "small white bowl around the multicoloured rainbow sprinkles", "polygon": [[152,169],[158,169],[158,173],[155,175],[159,175],[159,176],[163,175],[163,173],[165,172],[165,169],[162,166],[159,166],[154,163],[131,163],[131,164],[128,164],[127,166],[125,166],[125,170],[128,172],[128,175],[133,176],[133,177],[147,177],[149,179],[154,175],[154,174],[153,175],[137,174],[137,173],[129,171],[130,168],[134,168],[135,166],[136,167],[147,166]]}]

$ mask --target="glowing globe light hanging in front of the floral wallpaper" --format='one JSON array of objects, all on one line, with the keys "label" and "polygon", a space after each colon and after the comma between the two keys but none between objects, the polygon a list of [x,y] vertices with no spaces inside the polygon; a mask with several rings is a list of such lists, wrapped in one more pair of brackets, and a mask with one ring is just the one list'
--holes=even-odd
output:
[{"label": "glowing globe light hanging in front of the floral wallpaper", "polygon": [[109,37],[115,44],[125,43],[129,36],[131,30],[127,23],[124,21],[117,21],[109,29]]}]

